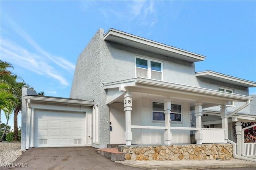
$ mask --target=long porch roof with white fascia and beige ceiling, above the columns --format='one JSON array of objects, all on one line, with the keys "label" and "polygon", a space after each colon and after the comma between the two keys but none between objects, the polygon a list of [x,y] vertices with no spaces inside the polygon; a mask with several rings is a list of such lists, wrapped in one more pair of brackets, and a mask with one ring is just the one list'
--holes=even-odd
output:
[{"label": "long porch roof with white fascia and beige ceiling, above the columns", "polygon": [[[203,103],[203,108],[222,105],[229,101],[246,102],[253,99],[253,97],[245,95],[226,93],[142,77],[104,84],[104,89],[112,88],[119,88],[119,91],[123,92],[130,91],[134,101],[141,97],[159,100],[169,98],[177,102],[190,103],[191,107],[194,106],[194,103],[201,102]],[[119,97],[114,101],[123,102],[123,100],[123,95],[119,95]]]}]

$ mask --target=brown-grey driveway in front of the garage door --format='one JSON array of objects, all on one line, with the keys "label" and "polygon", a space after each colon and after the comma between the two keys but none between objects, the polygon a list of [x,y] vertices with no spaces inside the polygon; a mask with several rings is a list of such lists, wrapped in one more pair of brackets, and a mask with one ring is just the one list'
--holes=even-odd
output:
[{"label": "brown-grey driveway in front of the garage door", "polygon": [[[23,166],[17,167],[17,166]],[[4,169],[23,170],[141,170],[112,162],[96,152],[93,147],[31,148],[10,167]]]}]

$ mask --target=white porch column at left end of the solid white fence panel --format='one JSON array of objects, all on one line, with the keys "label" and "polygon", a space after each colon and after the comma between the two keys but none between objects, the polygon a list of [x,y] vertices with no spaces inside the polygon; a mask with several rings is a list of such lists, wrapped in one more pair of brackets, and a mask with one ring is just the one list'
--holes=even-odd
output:
[{"label": "white porch column at left end of the solid white fence panel", "polygon": [[196,144],[202,144],[203,133],[202,133],[202,115],[203,115],[202,103],[195,103],[195,116],[196,116],[196,127],[199,130],[196,131]]}]

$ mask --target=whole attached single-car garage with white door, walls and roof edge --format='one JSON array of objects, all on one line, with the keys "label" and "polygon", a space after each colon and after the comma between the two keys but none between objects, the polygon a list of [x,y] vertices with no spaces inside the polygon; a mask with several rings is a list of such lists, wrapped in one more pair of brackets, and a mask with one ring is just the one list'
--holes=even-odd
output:
[{"label": "whole attached single-car garage with white door, walls and roof edge", "polygon": [[92,145],[94,102],[38,95],[22,100],[22,150]]}]

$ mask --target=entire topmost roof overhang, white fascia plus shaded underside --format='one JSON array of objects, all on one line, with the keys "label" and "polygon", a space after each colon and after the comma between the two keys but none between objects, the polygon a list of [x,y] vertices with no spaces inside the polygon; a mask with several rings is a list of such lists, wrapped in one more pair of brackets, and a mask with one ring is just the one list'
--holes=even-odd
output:
[{"label": "entire topmost roof overhang, white fascia plus shaded underside", "polygon": [[143,49],[153,53],[166,55],[168,57],[189,61],[192,63],[196,61],[203,61],[205,58],[205,56],[203,55],[185,51],[162,43],[154,42],[152,40],[134,36],[126,32],[114,30],[112,28],[110,28],[108,32],[104,34],[104,40],[120,43],[138,49]]}]

